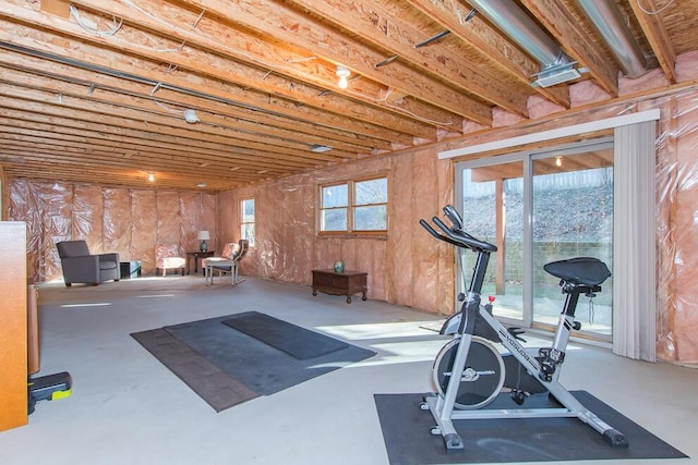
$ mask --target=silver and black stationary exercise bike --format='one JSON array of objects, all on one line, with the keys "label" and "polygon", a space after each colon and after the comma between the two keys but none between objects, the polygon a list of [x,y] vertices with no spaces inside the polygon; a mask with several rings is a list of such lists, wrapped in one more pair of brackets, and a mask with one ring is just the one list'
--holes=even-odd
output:
[{"label": "silver and black stationary exercise bike", "polygon": [[[494,298],[490,297],[486,304],[481,304],[480,292],[490,255],[497,247],[465,232],[462,218],[450,205],[444,207],[443,211],[452,223],[450,228],[438,217],[434,217],[432,221],[441,232],[424,220],[420,220],[420,224],[437,240],[457,248],[461,271],[467,250],[476,253],[477,260],[468,292],[458,297],[462,301],[460,311],[448,318],[441,329],[442,334],[454,338],[434,360],[433,380],[437,392],[426,394],[420,405],[423,411],[431,411],[436,421],[431,430],[432,435],[441,435],[446,450],[452,452],[464,449],[454,420],[576,417],[602,435],[612,446],[627,448],[627,438],[622,432],[601,420],[557,381],[569,333],[573,329],[581,328],[575,321],[579,296],[583,294],[593,297],[601,292],[601,283],[611,276],[606,265],[597,258],[580,257],[553,261],[543,267],[561,280],[562,292],[566,294],[565,304],[552,346],[526,348],[519,343],[524,341],[524,331],[520,328],[507,329],[492,315]],[[493,342],[501,342],[508,353],[501,354]],[[516,405],[522,405],[531,394],[547,392],[561,406],[483,408],[504,389],[509,391]]]}]

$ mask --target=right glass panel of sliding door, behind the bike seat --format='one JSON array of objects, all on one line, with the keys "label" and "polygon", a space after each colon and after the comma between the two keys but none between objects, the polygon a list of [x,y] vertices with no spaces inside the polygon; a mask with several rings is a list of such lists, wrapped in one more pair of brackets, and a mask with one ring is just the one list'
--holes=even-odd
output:
[{"label": "right glass panel of sliding door, behind the bike seat", "polygon": [[[613,147],[557,154],[532,157],[533,326],[550,329],[557,325],[565,295],[543,270],[545,264],[595,257],[613,269]],[[601,339],[611,336],[612,283],[577,306],[582,330]]]}]

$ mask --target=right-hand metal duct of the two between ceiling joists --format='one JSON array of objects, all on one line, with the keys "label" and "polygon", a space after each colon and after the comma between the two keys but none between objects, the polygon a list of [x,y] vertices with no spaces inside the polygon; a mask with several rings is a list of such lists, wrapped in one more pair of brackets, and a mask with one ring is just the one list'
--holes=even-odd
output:
[{"label": "right-hand metal duct of the two between ceiling joists", "polygon": [[628,77],[647,73],[647,62],[615,1],[577,0],[597,32],[603,37],[621,70]]}]

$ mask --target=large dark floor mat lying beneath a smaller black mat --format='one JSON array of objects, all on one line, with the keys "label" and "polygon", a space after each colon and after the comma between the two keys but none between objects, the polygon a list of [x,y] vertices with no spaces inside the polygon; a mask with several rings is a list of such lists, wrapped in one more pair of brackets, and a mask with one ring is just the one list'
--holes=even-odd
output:
[{"label": "large dark floor mat lying beneath a smaller black mat", "polygon": [[[246,315],[246,314],[240,314]],[[131,334],[216,412],[269,395],[375,355],[356,345],[298,358],[237,331],[236,315]]]}]

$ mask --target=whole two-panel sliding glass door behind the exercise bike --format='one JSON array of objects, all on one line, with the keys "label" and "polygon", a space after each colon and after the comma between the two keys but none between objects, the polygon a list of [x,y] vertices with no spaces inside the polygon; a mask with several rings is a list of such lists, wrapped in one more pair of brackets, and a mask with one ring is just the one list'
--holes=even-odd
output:
[{"label": "whole two-panel sliding glass door behind the exercise bike", "polygon": [[[459,162],[456,172],[466,231],[497,246],[483,290],[495,296],[495,315],[554,331],[565,295],[543,266],[591,256],[613,269],[612,142]],[[469,279],[474,254],[466,257]],[[582,335],[611,340],[612,286],[610,279],[593,299],[580,298]]]}]

